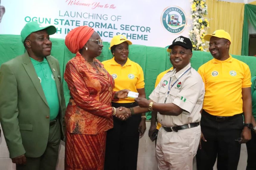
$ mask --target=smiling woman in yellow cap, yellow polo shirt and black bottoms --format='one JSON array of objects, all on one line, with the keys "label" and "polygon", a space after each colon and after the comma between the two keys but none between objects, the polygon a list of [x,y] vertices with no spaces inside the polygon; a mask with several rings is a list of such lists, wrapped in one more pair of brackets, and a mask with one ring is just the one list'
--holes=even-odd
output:
[{"label": "smiling woman in yellow cap, yellow polo shirt and black bottoms", "polygon": [[[131,44],[124,35],[114,36],[110,42],[113,58],[103,61],[102,64],[115,80],[113,90],[129,89],[145,98],[143,70],[139,64],[128,58]],[[112,101],[112,106],[129,108],[137,104],[134,98],[125,98]],[[114,128],[107,131],[105,170],[137,169],[139,135],[143,135],[146,130],[145,113],[141,115],[132,115],[126,121],[113,117]]]}]

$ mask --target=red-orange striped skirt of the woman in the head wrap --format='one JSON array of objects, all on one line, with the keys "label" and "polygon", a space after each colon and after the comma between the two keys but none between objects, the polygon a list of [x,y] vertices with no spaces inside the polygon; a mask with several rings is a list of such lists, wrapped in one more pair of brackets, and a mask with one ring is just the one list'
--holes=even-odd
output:
[{"label": "red-orange striped skirt of the woman in the head wrap", "polygon": [[65,170],[103,170],[107,132],[66,134]]}]

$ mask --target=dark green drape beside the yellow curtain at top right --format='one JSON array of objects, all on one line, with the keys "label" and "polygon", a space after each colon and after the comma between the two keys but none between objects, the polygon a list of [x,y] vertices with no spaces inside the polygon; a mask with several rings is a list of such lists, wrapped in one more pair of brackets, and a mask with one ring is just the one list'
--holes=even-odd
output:
[{"label": "dark green drape beside the yellow curtain at top right", "polygon": [[249,55],[248,21],[252,24],[253,28],[256,30],[256,5],[252,5],[252,4],[244,5],[243,38],[242,38],[241,55]]}]

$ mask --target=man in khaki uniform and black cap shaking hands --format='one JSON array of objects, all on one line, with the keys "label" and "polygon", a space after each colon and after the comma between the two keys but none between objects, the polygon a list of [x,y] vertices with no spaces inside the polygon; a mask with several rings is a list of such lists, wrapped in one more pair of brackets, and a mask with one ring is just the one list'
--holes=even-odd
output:
[{"label": "man in khaki uniform and black cap shaking hands", "polygon": [[156,145],[158,169],[192,170],[201,136],[199,122],[205,87],[201,76],[191,68],[190,39],[179,36],[168,48],[175,69],[163,76],[150,100],[136,98],[139,106],[123,109],[128,114],[158,112],[157,120],[162,124]]}]

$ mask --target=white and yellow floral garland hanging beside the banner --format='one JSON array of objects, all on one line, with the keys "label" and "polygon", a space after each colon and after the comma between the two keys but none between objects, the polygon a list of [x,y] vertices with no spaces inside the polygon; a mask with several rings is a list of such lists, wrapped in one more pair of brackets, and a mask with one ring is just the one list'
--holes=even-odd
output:
[{"label": "white and yellow floral garland hanging beside the banner", "polygon": [[209,27],[209,21],[204,18],[207,14],[207,5],[205,0],[191,0],[191,19],[193,20],[193,28],[189,31],[193,50],[206,51],[204,49],[205,40],[203,36],[206,33],[205,28]]}]

